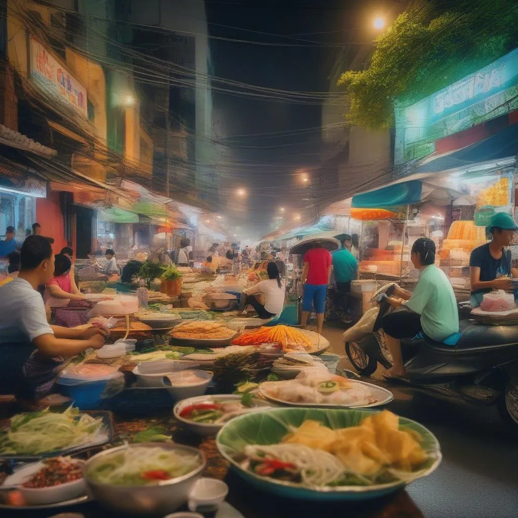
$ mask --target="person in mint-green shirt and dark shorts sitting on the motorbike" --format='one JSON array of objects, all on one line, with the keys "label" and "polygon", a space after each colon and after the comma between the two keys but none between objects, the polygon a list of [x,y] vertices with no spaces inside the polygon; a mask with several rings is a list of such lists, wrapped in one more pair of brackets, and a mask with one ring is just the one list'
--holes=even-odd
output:
[{"label": "person in mint-green shirt and dark shorts sitting on the motorbike", "polygon": [[410,260],[419,270],[419,281],[412,296],[409,300],[389,298],[394,308],[404,306],[408,311],[386,314],[381,321],[393,359],[392,367],[383,372],[386,379],[407,376],[401,355],[401,338],[413,338],[424,333],[432,340],[441,342],[458,333],[457,301],[448,277],[434,264],[434,241],[426,237],[416,240]]}]

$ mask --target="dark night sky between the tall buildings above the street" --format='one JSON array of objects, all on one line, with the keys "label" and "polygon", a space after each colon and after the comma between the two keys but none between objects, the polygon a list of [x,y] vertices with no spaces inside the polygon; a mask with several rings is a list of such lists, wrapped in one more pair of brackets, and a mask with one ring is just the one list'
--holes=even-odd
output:
[{"label": "dark night sky between the tall buildings above the street", "polygon": [[[280,90],[326,92],[327,77],[334,56],[340,50],[340,42],[372,40],[372,32],[363,27],[370,27],[373,17],[386,12],[390,4],[397,3],[379,0],[206,0],[211,36],[289,44],[261,46],[211,38],[214,75]],[[289,35],[335,47],[300,47],[295,45],[311,44],[250,31]],[[214,93],[213,103],[224,112],[232,156],[228,169],[250,192],[248,210],[241,213],[243,223],[249,226],[249,233],[266,232],[271,213],[278,211],[280,205],[289,205],[292,212],[303,209],[304,193],[293,197],[294,173],[301,167],[319,163],[320,131],[275,138],[247,135],[318,127],[321,106],[275,103],[222,93]],[[287,202],[282,199],[286,193],[292,193],[292,199]]]}]

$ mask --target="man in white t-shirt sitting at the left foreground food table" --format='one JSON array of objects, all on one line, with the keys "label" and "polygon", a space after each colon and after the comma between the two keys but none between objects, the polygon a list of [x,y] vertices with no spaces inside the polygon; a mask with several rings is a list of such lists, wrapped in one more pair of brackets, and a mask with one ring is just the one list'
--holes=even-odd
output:
[{"label": "man in white t-shirt sitting at the left foreground food table", "polygon": [[37,401],[52,389],[65,357],[87,348],[100,349],[105,333],[98,328],[50,326],[37,292],[54,275],[49,241],[29,236],[23,242],[18,278],[0,287],[0,391]]}]

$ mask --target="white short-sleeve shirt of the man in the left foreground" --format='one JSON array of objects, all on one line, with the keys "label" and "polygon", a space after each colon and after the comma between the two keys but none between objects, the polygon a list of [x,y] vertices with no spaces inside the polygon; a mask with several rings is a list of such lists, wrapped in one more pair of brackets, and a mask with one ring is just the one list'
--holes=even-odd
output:
[{"label": "white short-sleeve shirt of the man in the left foreground", "polygon": [[28,342],[54,334],[41,295],[19,277],[0,287],[0,343]]}]

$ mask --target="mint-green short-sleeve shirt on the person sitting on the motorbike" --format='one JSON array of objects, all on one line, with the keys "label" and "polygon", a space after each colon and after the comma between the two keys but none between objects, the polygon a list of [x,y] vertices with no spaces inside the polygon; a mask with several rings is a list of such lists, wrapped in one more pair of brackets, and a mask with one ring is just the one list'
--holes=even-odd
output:
[{"label": "mint-green short-sleeve shirt on the person sitting on the motorbike", "polygon": [[457,300],[444,272],[435,265],[426,266],[405,306],[421,315],[423,331],[438,342],[458,333]]}]

